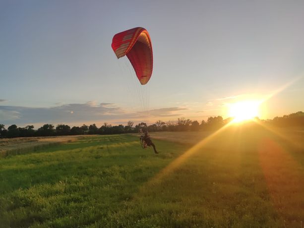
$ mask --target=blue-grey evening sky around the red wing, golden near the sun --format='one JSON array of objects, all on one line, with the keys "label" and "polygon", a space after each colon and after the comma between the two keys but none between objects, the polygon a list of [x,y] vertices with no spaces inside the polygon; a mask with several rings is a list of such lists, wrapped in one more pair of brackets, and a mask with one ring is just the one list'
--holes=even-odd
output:
[{"label": "blue-grey evening sky around the red wing, golden near the sun", "polygon": [[[303,0],[0,0],[0,123],[153,123],[304,111]],[[147,85],[112,38],[144,27]]]}]

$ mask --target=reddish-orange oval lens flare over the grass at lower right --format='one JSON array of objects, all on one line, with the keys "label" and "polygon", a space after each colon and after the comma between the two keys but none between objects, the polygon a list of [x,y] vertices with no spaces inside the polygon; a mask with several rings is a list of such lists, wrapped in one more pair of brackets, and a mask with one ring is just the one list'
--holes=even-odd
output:
[{"label": "reddish-orange oval lens flare over the grass at lower right", "polygon": [[260,141],[258,154],[267,190],[277,212],[285,218],[297,218],[303,208],[301,165],[271,138]]}]

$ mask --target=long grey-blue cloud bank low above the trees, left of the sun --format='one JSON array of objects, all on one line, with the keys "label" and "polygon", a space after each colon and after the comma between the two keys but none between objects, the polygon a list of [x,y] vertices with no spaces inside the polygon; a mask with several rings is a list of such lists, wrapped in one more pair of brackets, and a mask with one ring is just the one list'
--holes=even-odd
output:
[{"label": "long grey-blue cloud bank low above the trees, left of the sun", "polygon": [[[182,107],[171,107],[149,110],[148,112],[127,111],[113,103],[86,102],[84,104],[65,104],[49,108],[31,108],[21,106],[0,106],[0,123],[39,126],[41,123],[70,124],[70,123],[102,123],[119,122],[126,119],[139,121],[147,117],[180,116]],[[122,121],[123,120],[123,121]],[[39,127],[38,126],[38,127]]]}]

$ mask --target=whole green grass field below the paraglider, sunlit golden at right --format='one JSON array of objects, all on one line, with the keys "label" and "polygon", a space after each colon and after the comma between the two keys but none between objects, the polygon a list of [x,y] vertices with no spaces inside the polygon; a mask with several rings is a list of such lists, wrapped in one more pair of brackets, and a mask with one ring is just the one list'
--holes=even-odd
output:
[{"label": "whole green grass field below the paraglider, sunlit golden at right", "polygon": [[303,131],[151,135],[0,158],[0,227],[304,226]]}]

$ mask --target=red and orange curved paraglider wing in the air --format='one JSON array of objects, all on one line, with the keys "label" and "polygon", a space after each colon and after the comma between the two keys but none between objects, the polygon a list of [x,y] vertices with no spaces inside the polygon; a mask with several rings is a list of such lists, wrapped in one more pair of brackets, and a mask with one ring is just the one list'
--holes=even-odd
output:
[{"label": "red and orange curved paraglider wing in the air", "polygon": [[127,56],[140,83],[147,84],[153,70],[152,44],[148,31],[137,27],[118,33],[113,37],[112,49],[118,58]]}]

